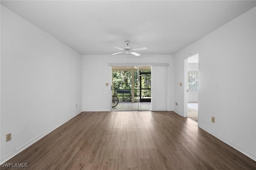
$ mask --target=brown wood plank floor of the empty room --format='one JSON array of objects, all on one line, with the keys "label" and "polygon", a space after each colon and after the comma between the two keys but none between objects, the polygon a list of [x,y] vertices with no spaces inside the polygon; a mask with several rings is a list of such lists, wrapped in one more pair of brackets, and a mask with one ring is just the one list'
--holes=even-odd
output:
[{"label": "brown wood plank floor of the empty room", "polygon": [[172,111],[82,112],[7,162],[29,170],[256,170]]}]

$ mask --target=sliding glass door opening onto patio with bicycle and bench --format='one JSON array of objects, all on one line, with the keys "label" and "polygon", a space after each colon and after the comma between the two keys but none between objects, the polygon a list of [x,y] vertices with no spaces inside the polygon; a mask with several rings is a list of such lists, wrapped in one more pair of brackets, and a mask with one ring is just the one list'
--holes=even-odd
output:
[{"label": "sliding glass door opening onto patio with bicycle and bench", "polygon": [[111,98],[112,111],[151,110],[151,66],[112,66]]}]

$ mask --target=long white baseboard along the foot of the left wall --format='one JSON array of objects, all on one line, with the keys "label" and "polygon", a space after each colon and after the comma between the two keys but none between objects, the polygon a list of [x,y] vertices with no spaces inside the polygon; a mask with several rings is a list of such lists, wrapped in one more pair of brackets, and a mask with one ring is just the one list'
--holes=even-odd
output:
[{"label": "long white baseboard along the foot of the left wall", "polygon": [[61,123],[58,123],[57,125],[55,125],[54,127],[48,129],[47,131],[45,131],[44,133],[38,135],[37,137],[35,137],[34,139],[32,139],[31,141],[29,141],[28,143],[25,143],[24,145],[22,145],[21,147],[17,148],[16,150],[10,152],[9,154],[7,154],[6,156],[4,156],[3,158],[0,159],[0,164],[6,162],[7,160],[9,160],[10,158],[14,157],[16,154],[22,152],[22,150],[30,147],[32,144],[36,143],[36,141],[42,139],[44,136],[46,136],[47,134],[49,134],[50,132],[52,132],[53,130],[55,130],[56,128],[60,127],[61,125],[63,125],[64,123],[66,123],[67,121],[69,121],[70,119],[72,119],[73,117],[75,117],[76,115],[78,115],[79,113],[81,113],[81,111],[75,113],[74,115],[68,117],[68,119],[65,119],[64,121],[62,121]]}]

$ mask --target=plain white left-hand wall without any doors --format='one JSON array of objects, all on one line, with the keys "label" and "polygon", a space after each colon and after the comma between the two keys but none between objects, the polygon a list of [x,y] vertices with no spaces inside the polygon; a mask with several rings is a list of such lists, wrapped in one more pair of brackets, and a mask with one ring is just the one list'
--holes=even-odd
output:
[{"label": "plain white left-hand wall without any doors", "polygon": [[78,52],[1,5],[1,162],[82,111],[81,62]]}]

